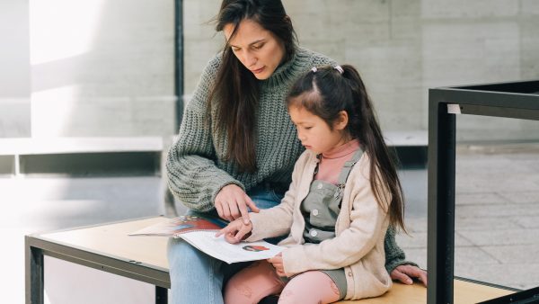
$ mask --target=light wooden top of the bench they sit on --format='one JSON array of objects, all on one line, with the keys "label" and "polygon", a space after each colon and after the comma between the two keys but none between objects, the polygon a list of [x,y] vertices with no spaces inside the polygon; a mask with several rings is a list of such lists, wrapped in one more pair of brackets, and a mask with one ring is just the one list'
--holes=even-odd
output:
[{"label": "light wooden top of the bench they sit on", "polygon": [[[136,219],[119,223],[75,228],[71,230],[40,234],[41,239],[53,241],[92,253],[115,257],[125,261],[137,261],[141,266],[161,268],[168,271],[166,237],[128,237],[139,228],[166,220],[163,217]],[[468,304],[490,300],[512,293],[473,282],[455,280],[455,303]],[[373,299],[340,301],[342,304],[420,304],[427,303],[427,289],[416,283],[394,283],[391,291]]]}]

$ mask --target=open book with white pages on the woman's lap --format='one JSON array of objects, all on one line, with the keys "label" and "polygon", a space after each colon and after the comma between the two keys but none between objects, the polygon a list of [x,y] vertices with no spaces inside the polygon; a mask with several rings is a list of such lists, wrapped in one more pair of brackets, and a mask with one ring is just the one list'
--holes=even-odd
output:
[{"label": "open book with white pages on the woman's lap", "polygon": [[215,237],[216,232],[226,224],[221,219],[186,215],[142,228],[129,236],[181,237],[200,251],[228,264],[264,260],[285,249],[266,241],[230,244],[224,236]]}]

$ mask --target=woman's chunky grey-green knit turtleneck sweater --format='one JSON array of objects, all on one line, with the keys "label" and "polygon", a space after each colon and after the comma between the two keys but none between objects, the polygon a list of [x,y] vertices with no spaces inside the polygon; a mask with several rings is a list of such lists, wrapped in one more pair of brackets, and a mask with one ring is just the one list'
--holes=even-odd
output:
[{"label": "woman's chunky grey-green knit turtleneck sweater", "polygon": [[[255,151],[258,170],[244,173],[234,161],[224,160],[226,135],[215,131],[213,113],[208,120],[208,94],[220,63],[221,56],[217,55],[200,76],[199,85],[185,108],[178,140],[172,145],[166,163],[171,192],[191,210],[212,210],[217,192],[227,184],[234,183],[248,191],[263,182],[291,182],[296,159],[304,148],[287,113],[288,89],[312,67],[335,64],[331,58],[314,51],[298,49],[294,58],[278,67],[270,78],[260,81]],[[387,234],[385,243],[386,250],[390,250],[386,256],[391,259],[388,258],[386,264],[391,272],[405,263],[404,255],[393,233]]]}]

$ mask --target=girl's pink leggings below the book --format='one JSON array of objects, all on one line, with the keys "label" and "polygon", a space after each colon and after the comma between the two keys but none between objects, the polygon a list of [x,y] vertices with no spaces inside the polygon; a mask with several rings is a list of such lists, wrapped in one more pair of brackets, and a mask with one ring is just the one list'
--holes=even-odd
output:
[{"label": "girl's pink leggings below the book", "polygon": [[282,282],[267,261],[255,262],[236,273],[225,287],[225,304],[256,304],[280,292],[278,303],[331,303],[340,299],[337,285],[319,271],[309,271]]}]

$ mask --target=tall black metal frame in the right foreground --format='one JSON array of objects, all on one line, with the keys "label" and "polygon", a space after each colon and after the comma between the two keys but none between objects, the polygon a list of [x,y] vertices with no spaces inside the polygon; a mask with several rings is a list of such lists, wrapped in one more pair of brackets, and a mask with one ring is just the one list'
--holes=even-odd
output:
[{"label": "tall black metal frame in the right foreground", "polygon": [[429,304],[453,303],[455,114],[539,121],[539,80],[429,90]]}]

